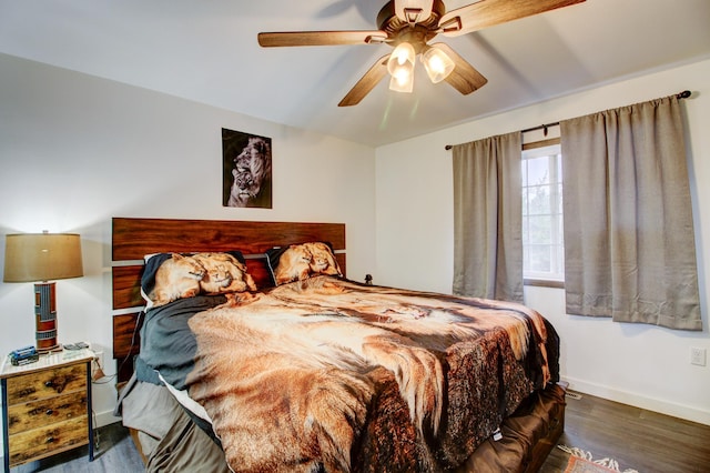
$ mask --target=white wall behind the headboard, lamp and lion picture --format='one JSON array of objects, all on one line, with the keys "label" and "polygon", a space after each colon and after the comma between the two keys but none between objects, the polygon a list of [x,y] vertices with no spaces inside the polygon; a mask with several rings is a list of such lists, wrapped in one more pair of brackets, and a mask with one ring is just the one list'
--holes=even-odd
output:
[{"label": "white wall behind the headboard, lamp and lion picture", "polygon": [[[222,207],[222,128],[272,138],[273,210]],[[90,341],[106,361],[112,217],[342,222],[347,275],[364,280],[374,159],[368,147],[0,54],[0,234],[81,234],[84,278],[57,283],[59,341]],[[34,344],[33,301],[32,284],[0,283],[1,355]],[[111,421],[113,383],[93,390],[99,423]]]}]

